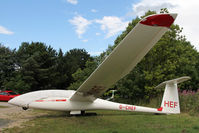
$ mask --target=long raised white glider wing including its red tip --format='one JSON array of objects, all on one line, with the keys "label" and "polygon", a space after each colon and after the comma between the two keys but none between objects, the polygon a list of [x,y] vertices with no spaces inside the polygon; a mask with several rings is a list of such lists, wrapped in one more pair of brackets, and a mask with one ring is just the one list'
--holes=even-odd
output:
[{"label": "long raised white glider wing including its red tip", "polygon": [[157,43],[177,14],[155,14],[142,19],[71,97],[92,102],[128,74]]}]

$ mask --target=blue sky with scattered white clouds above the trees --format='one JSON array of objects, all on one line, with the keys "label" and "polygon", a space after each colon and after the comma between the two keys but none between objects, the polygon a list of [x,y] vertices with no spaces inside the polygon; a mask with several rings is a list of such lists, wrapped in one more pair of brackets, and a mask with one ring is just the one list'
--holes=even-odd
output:
[{"label": "blue sky with scattered white clouds above the trees", "polygon": [[161,8],[178,13],[175,23],[199,51],[197,0],[1,0],[0,43],[18,49],[22,42],[43,42],[99,55],[132,19]]}]

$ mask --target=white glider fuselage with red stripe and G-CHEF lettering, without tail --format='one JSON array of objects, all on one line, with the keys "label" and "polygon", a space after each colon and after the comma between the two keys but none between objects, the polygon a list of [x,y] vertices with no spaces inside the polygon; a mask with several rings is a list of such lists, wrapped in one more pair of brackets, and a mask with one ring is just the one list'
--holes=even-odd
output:
[{"label": "white glider fuselage with red stripe and G-CHEF lettering, without tail", "polygon": [[[71,101],[73,90],[43,90],[35,91],[16,97],[9,103],[36,109],[57,110],[57,111],[79,111],[79,110],[123,110],[136,112],[164,113],[162,110],[148,107],[141,107],[129,104],[115,103],[97,98],[93,102]],[[47,97],[47,98],[45,98]],[[37,100],[39,99],[39,100]]]}]

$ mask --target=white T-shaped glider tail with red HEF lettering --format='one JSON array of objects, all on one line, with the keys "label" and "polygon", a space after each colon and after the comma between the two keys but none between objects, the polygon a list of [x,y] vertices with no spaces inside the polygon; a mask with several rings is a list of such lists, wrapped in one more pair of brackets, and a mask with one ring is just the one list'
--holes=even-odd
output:
[{"label": "white T-shaped glider tail with red HEF lettering", "polygon": [[160,110],[167,114],[179,114],[180,103],[178,96],[177,84],[189,80],[190,77],[184,76],[177,79],[165,81],[158,85],[156,88],[165,86],[165,91],[162,99]]}]

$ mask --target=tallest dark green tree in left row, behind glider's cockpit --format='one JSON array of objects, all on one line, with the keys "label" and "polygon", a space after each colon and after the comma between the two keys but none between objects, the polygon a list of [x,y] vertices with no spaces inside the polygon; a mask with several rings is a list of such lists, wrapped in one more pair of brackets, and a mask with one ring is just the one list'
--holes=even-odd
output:
[{"label": "tallest dark green tree in left row, behind glider's cockpit", "polygon": [[[26,91],[55,88],[56,51],[43,43],[22,43],[17,51],[19,79],[27,84]],[[21,88],[22,89],[22,88]],[[22,89],[24,90],[24,89]]]}]

